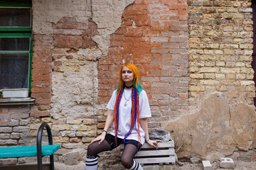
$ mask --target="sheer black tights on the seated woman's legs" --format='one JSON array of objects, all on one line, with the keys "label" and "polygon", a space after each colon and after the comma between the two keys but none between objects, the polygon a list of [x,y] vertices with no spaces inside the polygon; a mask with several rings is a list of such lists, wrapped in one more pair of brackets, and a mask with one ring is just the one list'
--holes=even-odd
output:
[{"label": "sheer black tights on the seated woman's legs", "polygon": [[[103,140],[103,142],[99,145],[99,141],[93,142],[87,148],[87,155],[96,156],[100,152],[111,150],[110,144],[107,140]],[[126,169],[130,169],[134,164],[133,159],[135,154],[137,153],[137,147],[132,144],[124,145],[124,150],[121,155],[122,165]]]}]

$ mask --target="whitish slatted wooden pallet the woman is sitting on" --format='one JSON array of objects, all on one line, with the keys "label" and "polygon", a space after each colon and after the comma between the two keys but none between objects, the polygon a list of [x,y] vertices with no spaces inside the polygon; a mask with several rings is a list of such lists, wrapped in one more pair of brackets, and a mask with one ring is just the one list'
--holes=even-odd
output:
[{"label": "whitish slatted wooden pallet the woman is sitting on", "polygon": [[[142,145],[142,149],[137,153],[135,160],[139,164],[175,164],[178,161],[175,150],[174,141],[159,142],[159,148],[156,150],[147,143]],[[124,145],[121,145],[121,151]]]}]

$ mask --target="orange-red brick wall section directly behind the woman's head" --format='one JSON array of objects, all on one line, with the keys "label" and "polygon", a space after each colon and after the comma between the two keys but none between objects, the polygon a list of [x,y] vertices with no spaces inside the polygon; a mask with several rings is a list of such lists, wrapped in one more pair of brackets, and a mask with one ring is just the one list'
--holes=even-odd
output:
[{"label": "orange-red brick wall section directly behind the woman's head", "polygon": [[121,27],[111,35],[109,55],[99,60],[98,101],[109,100],[120,66],[131,62],[149,96],[150,128],[188,109],[186,8],[186,1],[134,1],[125,8]]}]

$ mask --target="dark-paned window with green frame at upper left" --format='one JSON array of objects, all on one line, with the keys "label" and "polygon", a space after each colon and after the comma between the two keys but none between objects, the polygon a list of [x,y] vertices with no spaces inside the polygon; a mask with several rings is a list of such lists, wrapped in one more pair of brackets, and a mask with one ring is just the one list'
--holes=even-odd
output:
[{"label": "dark-paned window with green frame at upper left", "polygon": [[31,1],[0,1],[0,90],[31,89]]}]

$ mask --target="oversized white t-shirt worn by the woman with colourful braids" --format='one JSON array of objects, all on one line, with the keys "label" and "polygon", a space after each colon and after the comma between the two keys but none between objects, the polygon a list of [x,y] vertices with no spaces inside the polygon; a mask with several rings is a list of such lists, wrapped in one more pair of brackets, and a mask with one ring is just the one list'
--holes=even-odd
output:
[{"label": "oversized white t-shirt worn by the woman with colourful braids", "polygon": [[[125,98],[129,101],[126,101]],[[131,109],[132,109],[132,91],[127,91],[124,89],[122,94],[122,98],[119,105],[119,120],[118,120],[118,130],[117,130],[117,137],[124,139],[127,132],[131,127]],[[114,111],[114,104],[117,98],[117,90],[115,90],[110,98],[109,103],[107,104],[107,108]],[[125,102],[127,106],[124,106]],[[139,94],[139,118],[150,118],[151,112],[149,108],[149,99],[146,96],[146,91],[142,90]],[[138,130],[137,122],[136,127]],[[114,125],[113,129],[110,132],[111,135],[114,135]],[[141,136],[141,143],[142,145],[145,142],[145,132],[142,129],[141,125],[139,125],[139,134]],[[132,130],[131,134],[127,137],[127,140],[137,140],[139,142],[138,133],[135,128]]]}]

